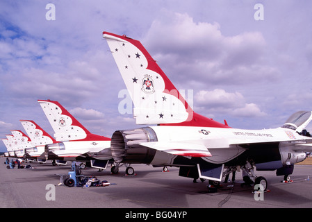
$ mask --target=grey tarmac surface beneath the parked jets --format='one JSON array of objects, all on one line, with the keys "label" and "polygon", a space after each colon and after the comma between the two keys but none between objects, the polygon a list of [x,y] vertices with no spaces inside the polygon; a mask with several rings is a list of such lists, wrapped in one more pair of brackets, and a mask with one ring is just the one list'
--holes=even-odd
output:
[{"label": "grey tarmac surface beneath the parked jets", "polygon": [[[111,183],[108,187],[58,186],[60,176],[67,175],[70,165],[53,167],[49,164],[32,164],[33,169],[6,169],[3,158],[0,167],[0,207],[40,208],[272,208],[312,207],[312,166],[296,165],[293,183],[281,183],[274,171],[257,171],[257,176],[268,180],[269,192],[253,194],[253,187],[240,187],[241,173],[236,183],[223,184],[216,193],[208,193],[208,182],[193,183],[190,178],[179,177],[179,169],[169,172],[144,164],[133,164],[136,176],[126,176],[125,168],[110,175],[110,168],[84,169],[83,175],[96,176]],[[308,176],[311,180],[307,180]],[[231,178],[231,176],[230,176]],[[54,187],[55,200],[51,199]],[[256,200],[258,199],[258,200]]]}]

